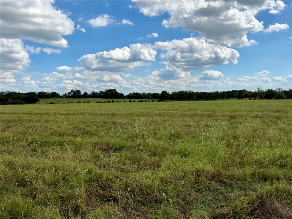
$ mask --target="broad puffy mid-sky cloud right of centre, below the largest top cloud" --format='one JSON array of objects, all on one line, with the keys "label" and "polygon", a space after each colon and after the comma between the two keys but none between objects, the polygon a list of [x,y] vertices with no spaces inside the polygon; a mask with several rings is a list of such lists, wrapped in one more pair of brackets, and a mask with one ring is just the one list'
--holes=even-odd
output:
[{"label": "broad puffy mid-sky cloud right of centre, below the largest top cloud", "polygon": [[154,48],[166,50],[160,57],[183,70],[200,69],[211,65],[237,64],[239,53],[225,46],[215,46],[202,38],[184,38],[168,42],[155,42]]}]

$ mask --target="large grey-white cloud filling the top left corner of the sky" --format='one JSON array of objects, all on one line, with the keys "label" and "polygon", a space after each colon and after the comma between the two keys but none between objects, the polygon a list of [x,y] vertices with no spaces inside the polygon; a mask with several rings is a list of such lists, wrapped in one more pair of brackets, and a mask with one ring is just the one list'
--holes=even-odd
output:
[{"label": "large grey-white cloud filling the top left corner of the sky", "polygon": [[62,35],[74,32],[67,14],[54,1],[1,1],[1,37],[28,39],[57,47],[68,47]]}]

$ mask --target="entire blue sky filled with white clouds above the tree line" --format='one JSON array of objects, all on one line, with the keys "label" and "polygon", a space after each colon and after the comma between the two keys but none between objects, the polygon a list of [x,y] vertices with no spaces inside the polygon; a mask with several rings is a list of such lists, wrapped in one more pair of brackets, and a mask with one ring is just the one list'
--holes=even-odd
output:
[{"label": "entire blue sky filled with white clouds above the tree line", "polygon": [[1,1],[1,91],[292,88],[291,1]]}]

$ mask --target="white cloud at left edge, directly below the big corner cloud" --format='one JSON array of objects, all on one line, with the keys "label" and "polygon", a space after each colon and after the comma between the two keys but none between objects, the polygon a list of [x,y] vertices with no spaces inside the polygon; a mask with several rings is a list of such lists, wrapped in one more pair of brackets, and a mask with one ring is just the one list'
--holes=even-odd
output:
[{"label": "white cloud at left edge, directly below the big corner cloud", "polygon": [[29,66],[29,55],[23,46],[21,39],[1,38],[1,82],[15,82],[13,73]]}]

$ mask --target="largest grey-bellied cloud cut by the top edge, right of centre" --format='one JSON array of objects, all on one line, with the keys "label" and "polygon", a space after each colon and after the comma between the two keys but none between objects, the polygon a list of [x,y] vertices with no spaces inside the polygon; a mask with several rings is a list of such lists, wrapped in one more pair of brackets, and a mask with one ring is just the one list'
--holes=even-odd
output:
[{"label": "largest grey-bellied cloud cut by the top edge, right of centre", "polygon": [[263,22],[255,15],[261,10],[276,13],[283,10],[282,1],[135,1],[135,6],[146,16],[168,13],[162,25],[183,27],[199,32],[206,39],[221,46],[251,46],[247,33],[264,31]]}]

